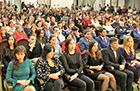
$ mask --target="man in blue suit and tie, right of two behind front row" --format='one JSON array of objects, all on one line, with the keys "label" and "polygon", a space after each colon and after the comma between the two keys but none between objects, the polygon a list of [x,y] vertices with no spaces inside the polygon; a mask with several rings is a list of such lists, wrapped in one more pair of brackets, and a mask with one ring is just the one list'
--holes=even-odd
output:
[{"label": "man in blue suit and tie, right of two behind front row", "polygon": [[99,50],[101,50],[102,48],[107,48],[109,46],[109,37],[106,36],[106,30],[104,28],[101,28],[99,30],[99,36],[96,37],[96,41],[98,42],[98,47]]}]

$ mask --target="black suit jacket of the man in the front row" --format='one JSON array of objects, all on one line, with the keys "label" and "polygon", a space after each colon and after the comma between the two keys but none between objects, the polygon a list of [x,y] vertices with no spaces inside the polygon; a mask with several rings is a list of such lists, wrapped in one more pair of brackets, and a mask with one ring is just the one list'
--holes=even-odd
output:
[{"label": "black suit jacket of the man in the front row", "polygon": [[120,69],[120,65],[126,64],[126,61],[125,61],[124,57],[122,56],[119,48],[117,49],[117,58],[116,59],[115,59],[114,52],[110,46],[104,50],[103,58],[104,58],[105,65],[111,65],[115,69],[118,69],[118,70]]}]

